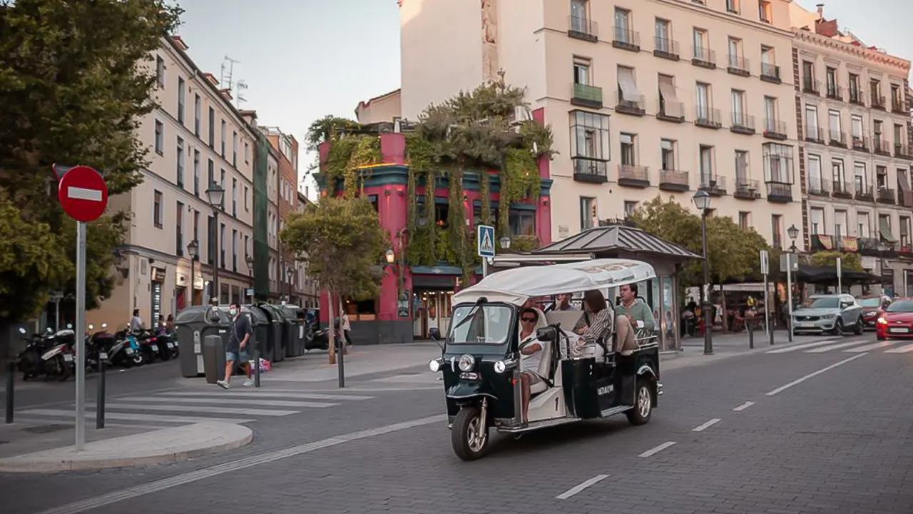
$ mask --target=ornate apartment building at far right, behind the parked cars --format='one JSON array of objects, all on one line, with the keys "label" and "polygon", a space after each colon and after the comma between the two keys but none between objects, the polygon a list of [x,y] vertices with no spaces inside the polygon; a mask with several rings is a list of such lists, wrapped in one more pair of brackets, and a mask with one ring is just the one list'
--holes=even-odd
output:
[{"label": "ornate apartment building at far right, behind the parked cars", "polygon": [[812,250],[862,255],[883,286],[913,294],[910,61],[791,7],[803,233]]}]

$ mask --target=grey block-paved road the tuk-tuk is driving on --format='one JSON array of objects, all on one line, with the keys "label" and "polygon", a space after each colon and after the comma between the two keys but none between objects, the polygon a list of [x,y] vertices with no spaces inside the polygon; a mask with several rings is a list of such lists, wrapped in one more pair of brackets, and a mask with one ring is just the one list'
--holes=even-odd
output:
[{"label": "grey block-paved road the tuk-tuk is driving on", "polygon": [[257,420],[232,454],[0,476],[4,512],[910,514],[913,352],[853,340],[669,369],[645,426],[497,436],[472,463],[452,454],[441,391],[364,392],[381,383],[365,377],[341,394],[371,400]]}]

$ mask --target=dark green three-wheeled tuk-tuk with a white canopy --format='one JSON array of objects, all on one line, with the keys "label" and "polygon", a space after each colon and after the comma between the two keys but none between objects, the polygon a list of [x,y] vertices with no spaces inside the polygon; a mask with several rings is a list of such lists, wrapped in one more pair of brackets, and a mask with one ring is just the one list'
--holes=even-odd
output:
[{"label": "dark green three-wheeled tuk-tuk with a white canopy", "polygon": [[[638,330],[634,350],[615,351],[614,340],[600,340],[582,351],[576,346],[582,339],[572,333],[582,311],[543,313],[533,307],[539,315],[535,338],[523,341],[519,321],[530,298],[587,290],[604,294],[655,277],[645,262],[599,259],[506,270],[454,294],[441,358],[428,363],[431,371],[443,373],[454,453],[467,461],[485,455],[491,428],[519,436],[621,413],[635,425],[649,422],[663,393],[652,332]],[[520,351],[533,342],[542,347],[533,369],[541,380],[530,387],[524,419]]]}]

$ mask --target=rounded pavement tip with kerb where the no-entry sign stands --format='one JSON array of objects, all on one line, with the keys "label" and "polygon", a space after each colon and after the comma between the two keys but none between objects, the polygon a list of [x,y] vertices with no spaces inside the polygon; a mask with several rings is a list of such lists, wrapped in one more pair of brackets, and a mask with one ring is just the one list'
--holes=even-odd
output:
[{"label": "rounded pavement tip with kerb where the no-entry sign stands", "polygon": [[[225,452],[253,439],[243,425],[195,423],[150,429],[87,423],[86,445],[76,451],[72,423],[0,425],[0,473],[55,473],[125,466],[153,466]],[[52,449],[47,449],[48,447]]]}]

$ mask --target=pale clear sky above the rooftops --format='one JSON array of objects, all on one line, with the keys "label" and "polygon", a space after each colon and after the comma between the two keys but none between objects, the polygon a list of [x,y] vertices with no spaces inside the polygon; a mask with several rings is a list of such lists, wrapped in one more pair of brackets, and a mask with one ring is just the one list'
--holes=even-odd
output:
[{"label": "pale clear sky above the rooftops", "polygon": [[[477,0],[436,0],[477,2]],[[561,1],[561,0],[547,0]],[[604,1],[604,0],[601,0]],[[645,0],[644,0],[645,1]],[[913,0],[797,0],[806,10],[824,3],[866,45],[913,59],[908,21]],[[399,7],[396,0],[181,0],[178,33],[201,70],[221,76],[236,59],[233,80],[244,80],[257,123],[294,135],[303,176],[314,161],[304,134],[326,114],[354,119],[355,106],[400,87]],[[306,183],[310,183],[306,181]],[[313,186],[310,186],[313,198]]]}]

